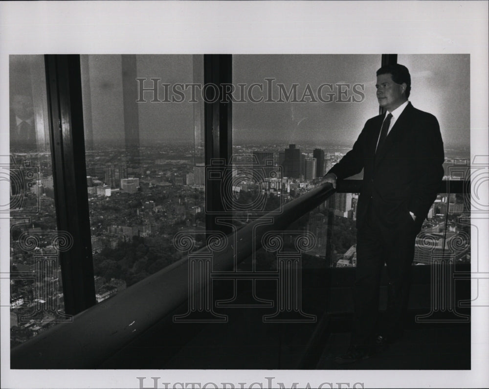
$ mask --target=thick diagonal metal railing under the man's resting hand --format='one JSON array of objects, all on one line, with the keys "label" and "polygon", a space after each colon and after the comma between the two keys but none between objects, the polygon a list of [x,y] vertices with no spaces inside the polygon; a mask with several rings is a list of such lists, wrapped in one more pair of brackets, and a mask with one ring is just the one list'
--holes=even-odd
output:
[{"label": "thick diagonal metal railing under the man's resting hand", "polygon": [[[261,239],[271,230],[284,230],[319,206],[334,193],[331,184],[315,188],[239,229],[228,244],[213,256],[213,270],[232,269],[262,246]],[[263,220],[273,219],[270,224]],[[226,238],[227,239],[227,238]],[[195,253],[205,253],[207,247]],[[60,323],[11,351],[10,366],[32,368],[96,368],[115,351],[131,342],[158,320],[189,298],[188,255],[125,291]],[[205,282],[199,288],[205,288]]]}]

